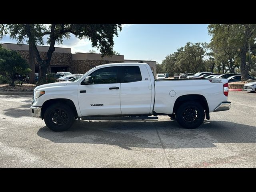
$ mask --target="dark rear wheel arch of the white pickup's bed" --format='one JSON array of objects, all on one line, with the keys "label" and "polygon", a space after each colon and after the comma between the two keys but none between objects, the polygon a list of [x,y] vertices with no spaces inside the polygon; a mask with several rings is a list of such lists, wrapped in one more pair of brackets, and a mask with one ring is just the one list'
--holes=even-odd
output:
[{"label": "dark rear wheel arch of the white pickup's bed", "polygon": [[178,107],[182,103],[188,102],[188,101],[194,101],[194,102],[200,103],[205,110],[206,119],[208,120],[210,119],[209,106],[208,106],[207,100],[203,95],[199,95],[199,94],[188,94],[188,95],[182,95],[178,97],[174,103],[172,113],[175,113],[178,110]]}]

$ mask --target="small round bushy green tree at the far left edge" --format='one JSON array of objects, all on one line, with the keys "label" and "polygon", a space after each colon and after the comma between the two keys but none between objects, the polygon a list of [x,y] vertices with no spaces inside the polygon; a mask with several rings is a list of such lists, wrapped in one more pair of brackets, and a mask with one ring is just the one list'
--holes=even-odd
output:
[{"label": "small round bushy green tree at the far left edge", "polygon": [[29,71],[28,63],[19,52],[0,46],[0,74],[8,79],[10,86],[15,86],[16,75],[23,76]]}]

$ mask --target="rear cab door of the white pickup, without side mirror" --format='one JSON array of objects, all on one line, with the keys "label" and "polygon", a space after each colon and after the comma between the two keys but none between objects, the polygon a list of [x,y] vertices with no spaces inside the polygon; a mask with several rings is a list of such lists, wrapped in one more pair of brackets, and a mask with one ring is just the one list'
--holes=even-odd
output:
[{"label": "rear cab door of the white pickup, without side mirror", "polygon": [[122,66],[122,114],[149,114],[152,103],[152,85],[146,66]]}]

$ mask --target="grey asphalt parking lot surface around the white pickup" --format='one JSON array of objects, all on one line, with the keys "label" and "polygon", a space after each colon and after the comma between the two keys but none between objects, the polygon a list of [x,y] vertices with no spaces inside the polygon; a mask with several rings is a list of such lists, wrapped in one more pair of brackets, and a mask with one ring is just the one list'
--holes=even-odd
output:
[{"label": "grey asphalt parking lot surface around the white pickup", "polygon": [[77,121],[53,132],[30,116],[31,95],[0,94],[0,167],[255,168],[256,93],[229,92],[231,109],[197,129],[156,121]]}]

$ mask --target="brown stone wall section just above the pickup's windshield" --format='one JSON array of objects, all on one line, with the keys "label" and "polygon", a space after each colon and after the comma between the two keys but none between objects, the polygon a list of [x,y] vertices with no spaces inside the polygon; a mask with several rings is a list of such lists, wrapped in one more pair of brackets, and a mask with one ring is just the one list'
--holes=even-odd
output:
[{"label": "brown stone wall section just above the pickup's windshield", "polygon": [[108,61],[108,60],[72,60],[70,65],[71,73],[82,73],[84,74],[95,66],[108,64],[108,63],[122,63],[120,61]]}]

